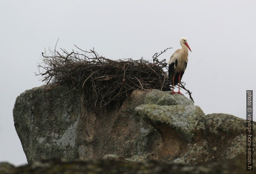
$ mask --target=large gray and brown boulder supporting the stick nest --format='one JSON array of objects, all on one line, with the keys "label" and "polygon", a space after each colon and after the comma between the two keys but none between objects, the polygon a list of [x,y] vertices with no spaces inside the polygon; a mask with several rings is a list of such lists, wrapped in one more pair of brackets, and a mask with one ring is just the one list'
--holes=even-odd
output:
[{"label": "large gray and brown boulder supporting the stick nest", "polygon": [[44,86],[21,93],[13,110],[15,128],[29,162],[150,154],[161,137],[133,114],[134,108],[148,102],[168,103],[170,98],[173,103],[189,103],[186,97],[172,96],[170,92],[136,90],[118,111],[97,117],[95,113],[87,113],[82,92],[68,92],[65,87],[42,91]]}]

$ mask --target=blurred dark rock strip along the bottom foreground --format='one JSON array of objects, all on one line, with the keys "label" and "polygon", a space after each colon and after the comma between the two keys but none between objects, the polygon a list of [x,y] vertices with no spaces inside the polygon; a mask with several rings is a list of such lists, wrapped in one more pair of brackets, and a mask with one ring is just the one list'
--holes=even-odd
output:
[{"label": "blurred dark rock strip along the bottom foreground", "polygon": [[[253,159],[256,161],[256,159]],[[11,166],[11,165],[10,165]],[[256,163],[253,163],[256,168]],[[141,173],[141,174],[243,174],[247,173],[245,159],[208,162],[200,165],[163,164],[156,161],[122,162],[113,160],[47,160],[35,161],[25,166],[2,169],[1,174],[42,174],[42,173]],[[248,171],[248,173],[252,173]],[[255,172],[254,172],[255,173]]]}]

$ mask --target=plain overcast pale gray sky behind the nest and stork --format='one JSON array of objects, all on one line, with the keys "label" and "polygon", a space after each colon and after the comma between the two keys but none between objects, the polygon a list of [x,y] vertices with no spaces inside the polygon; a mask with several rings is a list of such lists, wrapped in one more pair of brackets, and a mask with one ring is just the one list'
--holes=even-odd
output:
[{"label": "plain overcast pale gray sky behind the nest and stork", "polygon": [[[34,75],[44,48],[92,47],[110,59],[151,59],[186,37],[192,49],[183,75],[205,114],[246,118],[246,90],[255,89],[256,1],[0,2],[0,161],[26,163],[12,116],[20,93],[44,83]],[[184,92],[183,92],[184,93]],[[255,119],[254,119],[255,120]]]}]

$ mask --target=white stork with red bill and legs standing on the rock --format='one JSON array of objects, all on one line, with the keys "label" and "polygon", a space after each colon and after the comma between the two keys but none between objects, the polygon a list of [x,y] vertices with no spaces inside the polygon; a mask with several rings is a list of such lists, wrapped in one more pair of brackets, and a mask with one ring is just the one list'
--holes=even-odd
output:
[{"label": "white stork with red bill and legs standing on the rock", "polygon": [[[180,44],[181,44],[182,48],[176,50],[172,54],[172,56],[170,57],[170,60],[168,62],[168,64],[169,64],[168,77],[172,84],[172,93],[171,94],[175,94],[175,93],[182,94],[180,92],[180,82],[181,82],[181,78],[185,72],[185,69],[187,68],[188,49],[191,51],[190,47],[188,46],[186,38],[182,37],[180,40]],[[179,91],[174,92],[173,91],[174,85],[176,85],[178,83],[179,83]]]}]

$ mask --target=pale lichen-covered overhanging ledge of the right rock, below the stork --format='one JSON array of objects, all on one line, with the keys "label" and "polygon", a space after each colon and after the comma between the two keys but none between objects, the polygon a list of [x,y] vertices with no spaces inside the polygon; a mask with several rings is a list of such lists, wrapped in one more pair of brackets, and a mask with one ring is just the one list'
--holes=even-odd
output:
[{"label": "pale lichen-covered overhanging ledge of the right rock, below the stork", "polygon": [[205,130],[205,115],[198,106],[146,104],[136,107],[134,112],[159,132],[164,130],[157,125],[165,124],[188,141],[191,141],[197,132]]}]

